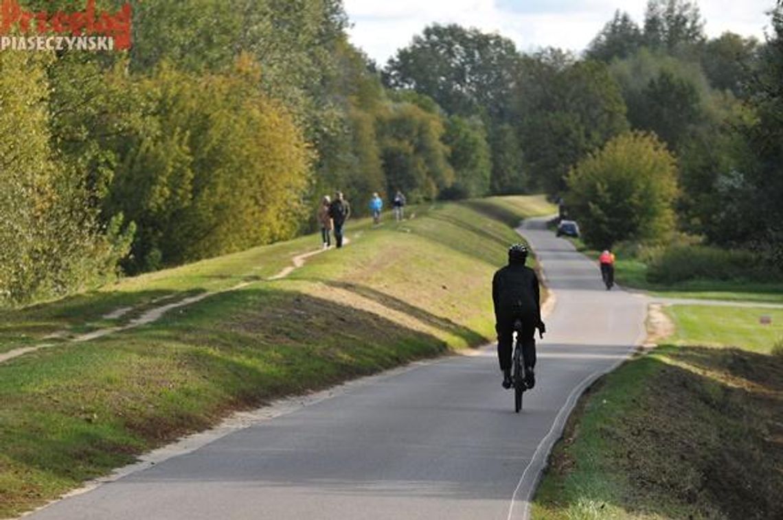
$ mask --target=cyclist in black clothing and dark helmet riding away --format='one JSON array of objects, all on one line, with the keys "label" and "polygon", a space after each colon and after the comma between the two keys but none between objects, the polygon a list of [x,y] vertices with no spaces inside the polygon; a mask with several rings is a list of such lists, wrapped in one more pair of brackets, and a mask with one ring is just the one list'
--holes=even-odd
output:
[{"label": "cyclist in black clothing and dark helmet riding away", "polygon": [[511,388],[511,343],[514,321],[522,322],[521,345],[525,361],[525,384],[536,384],[533,368],[536,366],[536,328],[543,335],[547,328],[541,321],[539,281],[536,271],[525,267],[528,248],[514,244],[508,249],[508,265],[495,273],[492,281],[492,298],[495,304],[495,330],[497,332],[497,357],[503,371],[503,388]]}]

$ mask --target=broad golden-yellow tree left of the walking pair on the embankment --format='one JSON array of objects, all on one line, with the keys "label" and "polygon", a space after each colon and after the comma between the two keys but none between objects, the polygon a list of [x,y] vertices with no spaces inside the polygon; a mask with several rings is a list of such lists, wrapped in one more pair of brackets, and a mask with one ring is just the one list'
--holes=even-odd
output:
[{"label": "broad golden-yellow tree left of the walking pair on the embankment", "polygon": [[226,74],[161,63],[126,80],[144,107],[122,139],[106,200],[139,233],[126,267],[143,271],[232,253],[298,230],[311,156],[301,130],[258,88],[241,56]]}]

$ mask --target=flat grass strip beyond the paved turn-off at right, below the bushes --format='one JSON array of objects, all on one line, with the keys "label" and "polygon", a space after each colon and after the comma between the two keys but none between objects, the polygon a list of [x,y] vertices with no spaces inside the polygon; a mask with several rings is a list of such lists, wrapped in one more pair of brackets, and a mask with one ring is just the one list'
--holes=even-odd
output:
[{"label": "flat grass strip beyond the paved turn-off at right, below the bushes", "polygon": [[[585,246],[579,238],[569,238],[581,253],[598,260],[599,251]],[[783,283],[748,280],[694,279],[663,284],[648,280],[648,265],[623,250],[615,251],[615,280],[619,285],[649,291],[666,298],[727,299],[759,303],[783,303]]]}]

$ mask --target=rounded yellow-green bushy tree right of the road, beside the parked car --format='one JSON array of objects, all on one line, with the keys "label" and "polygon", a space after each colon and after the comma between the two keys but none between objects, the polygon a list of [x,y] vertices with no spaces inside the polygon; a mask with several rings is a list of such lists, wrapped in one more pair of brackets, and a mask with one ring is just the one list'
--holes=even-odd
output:
[{"label": "rounded yellow-green bushy tree right of the road, beside the parked car", "polygon": [[674,228],[674,157],[652,134],[629,132],[579,161],[568,174],[566,203],[588,246],[659,241]]}]

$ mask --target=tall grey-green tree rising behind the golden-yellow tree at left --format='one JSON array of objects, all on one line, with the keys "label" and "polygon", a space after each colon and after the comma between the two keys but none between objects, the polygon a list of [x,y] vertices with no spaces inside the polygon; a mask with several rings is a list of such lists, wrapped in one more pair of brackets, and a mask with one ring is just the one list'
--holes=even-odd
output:
[{"label": "tall grey-green tree rising behind the golden-yellow tree at left", "polygon": [[241,54],[253,56],[263,91],[286,106],[316,150],[313,173],[323,191],[334,172],[357,167],[340,79],[347,25],[341,0],[143,0],[131,70],[149,73],[166,60],[190,74],[221,73]]}]

